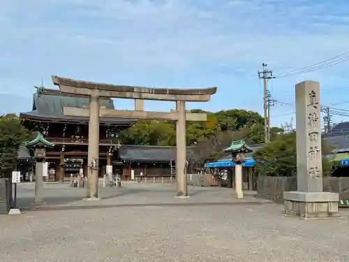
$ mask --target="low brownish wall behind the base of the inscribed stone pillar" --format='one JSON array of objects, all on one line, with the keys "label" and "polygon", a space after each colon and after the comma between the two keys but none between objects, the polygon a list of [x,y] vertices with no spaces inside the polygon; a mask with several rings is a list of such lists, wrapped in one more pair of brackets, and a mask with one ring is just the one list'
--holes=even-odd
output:
[{"label": "low brownish wall behind the base of the inscribed stone pillar", "polygon": [[[339,193],[340,200],[349,200],[349,177],[324,177],[322,187],[323,191]],[[297,191],[297,177],[258,176],[258,197],[283,204],[284,191]]]}]

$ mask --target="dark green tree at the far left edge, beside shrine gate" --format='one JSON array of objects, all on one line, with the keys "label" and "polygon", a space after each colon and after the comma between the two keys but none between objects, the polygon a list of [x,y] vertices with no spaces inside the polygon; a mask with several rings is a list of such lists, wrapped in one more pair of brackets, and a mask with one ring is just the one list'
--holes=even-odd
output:
[{"label": "dark green tree at the far left edge, beside shrine gate", "polygon": [[17,150],[29,131],[14,114],[0,116],[0,177],[10,177],[17,163]]}]

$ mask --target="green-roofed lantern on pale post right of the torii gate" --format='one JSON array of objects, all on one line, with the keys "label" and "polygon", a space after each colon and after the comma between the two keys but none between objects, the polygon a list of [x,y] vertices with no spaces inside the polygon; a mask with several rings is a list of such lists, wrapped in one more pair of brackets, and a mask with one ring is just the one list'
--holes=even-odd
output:
[{"label": "green-roofed lantern on pale post right of the torii gate", "polygon": [[235,162],[235,192],[237,198],[243,198],[242,194],[242,163],[244,163],[245,154],[253,152],[252,148],[246,145],[244,140],[234,140],[228,148],[223,150],[225,153],[232,154],[232,161]]}]

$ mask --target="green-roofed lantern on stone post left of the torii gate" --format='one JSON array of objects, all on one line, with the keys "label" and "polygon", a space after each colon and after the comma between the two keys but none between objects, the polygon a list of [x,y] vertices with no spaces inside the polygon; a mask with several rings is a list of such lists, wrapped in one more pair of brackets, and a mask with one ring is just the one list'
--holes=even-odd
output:
[{"label": "green-roofed lantern on stone post left of the torii gate", "polygon": [[39,132],[36,134],[36,138],[25,143],[25,146],[29,150],[34,150],[34,159],[36,160],[35,166],[35,204],[40,205],[43,203],[43,173],[47,172],[44,168],[46,162],[46,148],[54,147],[53,143],[47,141],[43,135]]}]

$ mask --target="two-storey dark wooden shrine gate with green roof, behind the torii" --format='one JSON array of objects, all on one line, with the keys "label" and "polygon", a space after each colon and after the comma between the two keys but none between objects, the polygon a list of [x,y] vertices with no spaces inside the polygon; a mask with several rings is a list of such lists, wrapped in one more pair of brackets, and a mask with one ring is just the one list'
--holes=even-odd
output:
[{"label": "two-storey dark wooden shrine gate with green roof, behind the torii", "polygon": [[[87,175],[88,117],[66,117],[64,107],[87,108],[89,99],[71,96],[53,96],[38,88],[34,94],[32,109],[21,113],[22,124],[31,132],[38,131],[54,144],[47,149],[46,161],[50,163],[50,179],[63,181],[70,174],[79,173],[81,168]],[[114,109],[112,99],[101,99],[101,108]],[[99,133],[100,175],[111,164],[117,148],[120,147],[119,133],[136,122],[135,119],[101,119]],[[22,148],[22,155],[23,154]],[[19,163],[23,157],[19,156]]]}]

